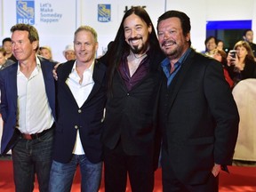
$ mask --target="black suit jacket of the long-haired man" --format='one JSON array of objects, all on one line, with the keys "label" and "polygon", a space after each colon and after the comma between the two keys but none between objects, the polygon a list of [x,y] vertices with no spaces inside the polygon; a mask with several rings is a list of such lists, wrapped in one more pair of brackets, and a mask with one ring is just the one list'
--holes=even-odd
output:
[{"label": "black suit jacket of the long-haired man", "polygon": [[122,76],[116,71],[112,95],[108,97],[106,105],[102,142],[113,149],[121,140],[124,152],[129,156],[157,154],[155,114],[162,52],[151,52],[149,60],[148,75],[131,91],[127,90]]}]

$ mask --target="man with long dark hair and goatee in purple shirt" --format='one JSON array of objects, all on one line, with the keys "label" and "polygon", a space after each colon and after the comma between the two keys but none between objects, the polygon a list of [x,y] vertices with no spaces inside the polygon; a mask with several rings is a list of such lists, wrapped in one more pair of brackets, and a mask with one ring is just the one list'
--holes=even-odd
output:
[{"label": "man with long dark hair and goatee in purple shirt", "polygon": [[[164,59],[148,13],[132,7],[105,56],[108,101],[102,134],[106,192],[150,192],[159,153],[156,98]],[[155,160],[155,161],[154,161]]]}]

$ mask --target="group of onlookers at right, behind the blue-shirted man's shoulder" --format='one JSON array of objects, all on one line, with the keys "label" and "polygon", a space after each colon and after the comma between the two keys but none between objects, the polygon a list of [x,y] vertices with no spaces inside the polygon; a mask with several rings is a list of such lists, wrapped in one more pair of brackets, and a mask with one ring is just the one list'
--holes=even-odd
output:
[{"label": "group of onlookers at right, behind the blue-shirted man's shoulder", "polygon": [[252,41],[253,31],[246,29],[242,40],[238,40],[234,47],[225,52],[222,40],[215,36],[205,39],[205,52],[202,53],[220,61],[230,88],[234,88],[241,80],[256,78],[256,44]]}]

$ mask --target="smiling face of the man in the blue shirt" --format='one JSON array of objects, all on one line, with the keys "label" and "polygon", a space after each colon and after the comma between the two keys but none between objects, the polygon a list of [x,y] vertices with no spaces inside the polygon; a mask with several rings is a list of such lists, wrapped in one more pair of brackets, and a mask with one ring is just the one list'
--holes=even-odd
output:
[{"label": "smiling face of the man in the blue shirt", "polygon": [[179,60],[189,47],[190,34],[183,35],[180,19],[161,20],[158,24],[158,41],[169,60]]}]

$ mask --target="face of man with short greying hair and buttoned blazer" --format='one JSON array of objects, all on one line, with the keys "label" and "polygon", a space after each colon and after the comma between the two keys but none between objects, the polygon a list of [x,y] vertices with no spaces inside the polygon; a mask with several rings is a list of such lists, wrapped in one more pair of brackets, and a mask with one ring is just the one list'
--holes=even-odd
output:
[{"label": "face of man with short greying hair and buttoned blazer", "polygon": [[74,40],[76,60],[81,63],[92,62],[98,49],[98,43],[90,31],[79,31]]}]

